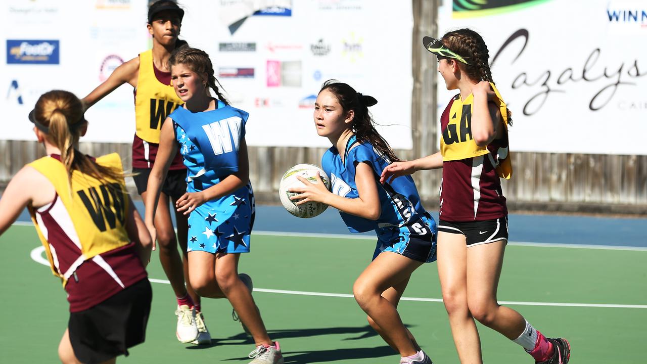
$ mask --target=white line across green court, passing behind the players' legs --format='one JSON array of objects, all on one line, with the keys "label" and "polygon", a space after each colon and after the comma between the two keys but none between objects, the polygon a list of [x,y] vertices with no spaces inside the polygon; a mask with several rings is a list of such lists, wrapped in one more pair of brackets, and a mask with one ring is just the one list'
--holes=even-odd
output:
[{"label": "white line across green court, passing behind the players' legs", "polygon": [[[37,263],[49,266],[47,259],[43,258],[45,247],[40,246],[32,249],[30,256]],[[171,284],[166,279],[149,278],[150,282]],[[279,293],[283,295],[300,295],[300,296],[320,296],[320,297],[342,297],[353,298],[353,295],[347,293],[325,293],[325,292],[308,292],[308,291],[288,291],[288,290],[269,290],[266,288],[254,288],[254,292]],[[422,297],[402,297],[400,301],[418,301],[418,302],[443,302],[442,299],[428,299]],[[517,302],[517,301],[499,301],[499,304],[520,305],[520,306],[561,306],[561,307],[597,307],[597,308],[647,308],[647,304],[597,304],[597,303],[562,303],[562,302]]]}]

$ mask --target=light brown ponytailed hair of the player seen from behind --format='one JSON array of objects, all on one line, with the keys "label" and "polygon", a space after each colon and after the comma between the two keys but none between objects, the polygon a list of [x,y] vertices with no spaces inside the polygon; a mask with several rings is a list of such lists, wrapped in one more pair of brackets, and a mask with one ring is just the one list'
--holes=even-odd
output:
[{"label": "light brown ponytailed hair of the player seen from behind", "polygon": [[34,117],[48,128],[47,141],[61,150],[61,162],[67,170],[70,187],[74,170],[100,181],[105,181],[106,177],[117,180],[124,177],[122,171],[98,165],[78,151],[79,137],[87,121],[83,117],[83,104],[73,93],[61,90],[44,93],[36,102]]}]

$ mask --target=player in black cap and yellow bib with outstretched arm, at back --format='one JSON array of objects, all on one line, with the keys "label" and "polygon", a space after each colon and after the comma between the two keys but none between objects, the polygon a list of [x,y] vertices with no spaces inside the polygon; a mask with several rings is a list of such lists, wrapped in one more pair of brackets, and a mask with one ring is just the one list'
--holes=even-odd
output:
[{"label": "player in black cap and yellow bib with outstretched arm, at back", "polygon": [[[146,199],[146,185],[159,148],[160,128],[166,116],[182,104],[171,86],[168,59],[173,49],[186,41],[178,40],[184,10],[175,1],[159,0],[148,9],[148,32],[153,37],[153,49],[120,65],[107,80],[83,98],[86,108],[98,102],[122,84],[135,87],[135,126],[133,139],[133,172],[137,192]],[[170,172],[162,185],[155,214],[160,263],[171,288],[177,297],[177,328],[175,335],[182,343],[210,344],[211,336],[201,314],[200,297],[195,294],[185,277],[186,266],[186,216],[175,212],[177,240],[169,198],[175,202],[186,192],[186,168],[182,156],[175,155]],[[182,257],[177,251],[179,242]],[[155,244],[155,241],[153,241]]]}]

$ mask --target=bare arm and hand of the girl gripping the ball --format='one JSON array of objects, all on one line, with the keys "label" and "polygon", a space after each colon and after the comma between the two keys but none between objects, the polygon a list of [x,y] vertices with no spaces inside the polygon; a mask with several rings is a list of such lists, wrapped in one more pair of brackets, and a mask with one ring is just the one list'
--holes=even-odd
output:
[{"label": "bare arm and hand of the girl gripping the ball", "polygon": [[333,194],[325,187],[320,176],[317,183],[312,183],[300,176],[297,176],[297,178],[305,185],[305,187],[290,188],[290,192],[299,193],[298,196],[291,198],[299,200],[296,203],[297,205],[308,201],[316,201],[360,218],[369,220],[380,218],[382,210],[380,197],[377,193],[377,181],[375,181],[373,168],[367,163],[360,162],[355,167],[355,185],[359,195],[358,198],[345,198]]}]

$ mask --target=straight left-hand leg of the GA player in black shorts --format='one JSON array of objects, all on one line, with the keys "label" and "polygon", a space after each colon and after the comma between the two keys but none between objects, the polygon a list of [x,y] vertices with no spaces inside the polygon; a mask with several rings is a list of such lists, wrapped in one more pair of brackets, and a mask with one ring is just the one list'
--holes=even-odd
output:
[{"label": "straight left-hand leg of the GA player in black shorts", "polygon": [[461,363],[483,363],[481,340],[467,305],[465,235],[444,231],[443,222],[438,230],[438,277],[458,358]]}]

